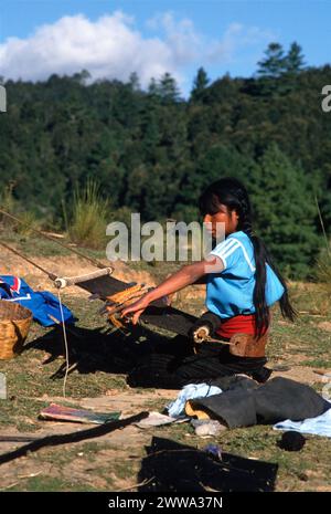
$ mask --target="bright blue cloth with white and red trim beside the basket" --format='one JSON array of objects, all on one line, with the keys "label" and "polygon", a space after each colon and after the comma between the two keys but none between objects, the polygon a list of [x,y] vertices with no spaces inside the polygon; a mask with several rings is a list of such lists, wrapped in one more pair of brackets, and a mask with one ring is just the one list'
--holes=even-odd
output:
[{"label": "bright blue cloth with white and red trim beside the basket", "polygon": [[[61,318],[60,302],[47,291],[34,292],[22,279],[12,275],[0,275],[0,298],[9,302],[18,302],[23,307],[30,308],[33,319],[43,326],[56,325]],[[62,304],[65,323],[74,323],[72,312]]]}]

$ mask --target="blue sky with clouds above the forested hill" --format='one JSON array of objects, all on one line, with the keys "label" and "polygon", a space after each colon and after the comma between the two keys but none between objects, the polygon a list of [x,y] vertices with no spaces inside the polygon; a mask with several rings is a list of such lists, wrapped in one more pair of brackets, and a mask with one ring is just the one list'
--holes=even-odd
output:
[{"label": "blue sky with clouds above the forested hill", "polygon": [[83,67],[146,86],[166,71],[186,95],[196,69],[250,76],[268,43],[331,61],[331,0],[0,0],[0,75],[44,80]]}]

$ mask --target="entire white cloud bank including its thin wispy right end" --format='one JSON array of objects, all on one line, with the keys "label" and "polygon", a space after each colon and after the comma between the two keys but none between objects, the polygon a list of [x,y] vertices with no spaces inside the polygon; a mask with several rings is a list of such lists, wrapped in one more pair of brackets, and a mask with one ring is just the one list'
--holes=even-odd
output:
[{"label": "entire white cloud bank including its thin wispy right end", "polygon": [[169,72],[183,84],[185,66],[229,62],[238,49],[268,36],[258,28],[233,23],[220,41],[211,41],[197,33],[190,19],[177,21],[171,12],[147,23],[158,35],[142,35],[135,19],[121,11],[96,21],[84,14],[61,18],[26,39],[9,38],[0,44],[0,75],[36,81],[85,69],[93,80],[127,81],[137,72],[146,86],[151,77]]}]

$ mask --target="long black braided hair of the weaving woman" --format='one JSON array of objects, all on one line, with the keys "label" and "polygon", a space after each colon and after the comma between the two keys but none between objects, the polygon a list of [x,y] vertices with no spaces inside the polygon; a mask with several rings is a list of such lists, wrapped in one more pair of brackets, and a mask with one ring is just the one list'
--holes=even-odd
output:
[{"label": "long black braided hair of the weaving woman", "polygon": [[250,201],[245,186],[235,178],[222,178],[211,183],[199,199],[200,211],[203,216],[215,214],[220,204],[227,207],[228,211],[238,214],[237,230],[245,232],[254,246],[255,258],[255,287],[253,302],[255,306],[255,336],[260,337],[270,324],[269,308],[266,303],[266,263],[273,269],[281,285],[284,294],[279,300],[284,317],[295,321],[297,315],[288,297],[288,289],[263,241],[253,232],[253,214]]}]

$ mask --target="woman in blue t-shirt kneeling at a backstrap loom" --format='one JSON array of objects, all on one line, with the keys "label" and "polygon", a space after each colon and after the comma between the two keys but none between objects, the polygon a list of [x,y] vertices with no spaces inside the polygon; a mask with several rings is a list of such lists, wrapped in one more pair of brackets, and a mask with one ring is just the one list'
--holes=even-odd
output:
[{"label": "woman in blue t-shirt kneeling at a backstrap loom", "polygon": [[285,281],[264,243],[253,232],[245,187],[236,179],[223,178],[206,188],[199,204],[213,237],[217,234],[217,223],[223,223],[225,240],[216,244],[206,259],[183,266],[124,308],[121,316],[130,314],[136,324],[151,302],[203,281],[206,283],[206,307],[220,322],[216,334],[226,342],[232,342],[235,334],[246,335],[247,352],[237,356],[231,353],[229,345],[209,343],[199,345],[194,354],[188,338],[177,337],[171,353],[168,349],[138,364],[128,378],[132,386],[178,388],[238,373],[265,381],[270,375],[264,368],[269,307],[279,301],[282,315],[295,319]]}]

